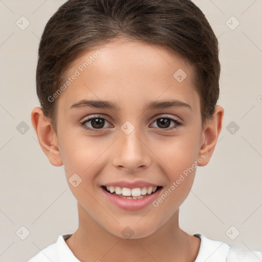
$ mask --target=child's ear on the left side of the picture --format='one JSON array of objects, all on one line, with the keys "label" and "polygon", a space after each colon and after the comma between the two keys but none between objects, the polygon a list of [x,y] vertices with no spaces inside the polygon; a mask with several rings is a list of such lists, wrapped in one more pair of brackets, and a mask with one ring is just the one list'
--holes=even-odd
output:
[{"label": "child's ear on the left side of the picture", "polygon": [[32,110],[31,121],[39,144],[48,157],[49,162],[53,166],[63,165],[57,135],[40,107],[35,107]]}]

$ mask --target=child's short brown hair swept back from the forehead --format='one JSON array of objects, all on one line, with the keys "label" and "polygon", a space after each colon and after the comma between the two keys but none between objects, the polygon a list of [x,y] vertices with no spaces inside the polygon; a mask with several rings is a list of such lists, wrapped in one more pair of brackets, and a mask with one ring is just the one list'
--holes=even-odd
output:
[{"label": "child's short brown hair swept back from the forehead", "polygon": [[203,12],[190,0],[69,0],[43,31],[36,70],[41,108],[56,132],[52,96],[70,64],[83,52],[124,36],[168,47],[195,68],[202,124],[219,98],[219,45]]}]

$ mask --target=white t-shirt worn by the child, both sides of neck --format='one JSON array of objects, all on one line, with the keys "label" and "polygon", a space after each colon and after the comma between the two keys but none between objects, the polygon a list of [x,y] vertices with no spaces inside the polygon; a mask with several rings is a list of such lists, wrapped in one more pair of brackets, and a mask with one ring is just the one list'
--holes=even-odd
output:
[{"label": "white t-shirt worn by the child, both sides of neck", "polygon": [[[65,240],[72,234],[59,235],[57,242],[41,250],[28,262],[81,262],[68,247]],[[199,254],[194,262],[259,262],[262,252],[244,251],[228,244],[194,234],[201,239]]]}]

